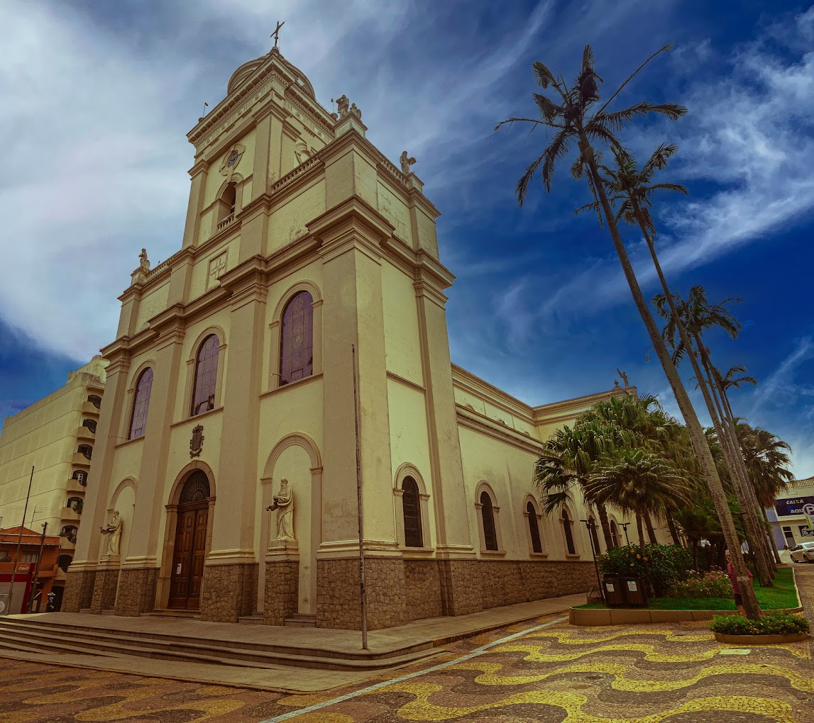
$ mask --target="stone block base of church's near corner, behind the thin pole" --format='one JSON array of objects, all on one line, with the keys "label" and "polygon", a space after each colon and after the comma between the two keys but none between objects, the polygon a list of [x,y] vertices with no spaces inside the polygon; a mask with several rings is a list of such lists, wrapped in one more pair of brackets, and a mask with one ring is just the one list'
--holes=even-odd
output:
[{"label": "stone block base of church's near corner, behind the thin pole", "polygon": [[[405,612],[405,561],[365,559],[367,628],[402,625]],[[317,560],[317,627],[361,629],[359,560]]]}]

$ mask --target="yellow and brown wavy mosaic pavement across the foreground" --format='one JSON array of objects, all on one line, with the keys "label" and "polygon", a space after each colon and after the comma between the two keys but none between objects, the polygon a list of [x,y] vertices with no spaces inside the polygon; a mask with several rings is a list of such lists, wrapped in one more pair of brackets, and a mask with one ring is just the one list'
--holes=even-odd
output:
[{"label": "yellow and brown wavy mosaic pavement across the foreground", "polygon": [[[814,566],[812,566],[814,567]],[[804,602],[814,569],[799,577]],[[803,589],[803,584],[805,589]],[[809,615],[810,607],[807,608]],[[549,618],[548,620],[550,620]],[[456,660],[547,619],[449,646],[432,665]],[[749,650],[745,655],[733,650]],[[375,682],[392,684],[288,720],[296,723],[807,723],[814,721],[809,642],[727,647],[704,623],[576,628],[553,625],[499,643],[484,655],[317,695],[286,695],[226,686],[73,669],[0,659],[2,723],[259,723],[335,699]]]}]

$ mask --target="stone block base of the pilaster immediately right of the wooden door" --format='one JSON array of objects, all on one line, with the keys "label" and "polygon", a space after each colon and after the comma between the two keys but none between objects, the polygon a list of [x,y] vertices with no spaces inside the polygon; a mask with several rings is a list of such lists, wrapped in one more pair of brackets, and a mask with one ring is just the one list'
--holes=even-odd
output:
[{"label": "stone block base of the pilaster immediately right of the wooden door", "polygon": [[257,600],[257,564],[204,566],[201,582],[201,620],[236,623],[254,612]]}]

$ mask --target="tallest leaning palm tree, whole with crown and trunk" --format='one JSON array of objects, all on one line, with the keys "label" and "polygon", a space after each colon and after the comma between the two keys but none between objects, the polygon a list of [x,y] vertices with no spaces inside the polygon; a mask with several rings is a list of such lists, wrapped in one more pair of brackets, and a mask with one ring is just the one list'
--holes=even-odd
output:
[{"label": "tallest leaning palm tree, whole with crown and trunk", "polygon": [[575,163],[571,166],[571,173],[577,179],[583,178],[587,173],[589,190],[594,200],[602,207],[602,215],[605,217],[610,237],[615,246],[616,253],[619,256],[619,262],[622,264],[624,276],[628,281],[633,300],[646,326],[647,333],[650,336],[650,342],[653,344],[656,355],[659,357],[667,380],[670,382],[673,394],[676,396],[676,402],[681,409],[681,415],[684,416],[687,428],[689,429],[689,435],[692,439],[695,453],[698,455],[704,476],[707,478],[710,494],[715,502],[718,516],[720,517],[724,537],[733,553],[733,565],[738,583],[741,590],[743,590],[743,602],[746,614],[751,618],[757,619],[760,617],[760,608],[757,599],[755,599],[754,591],[749,585],[746,564],[744,564],[740,552],[737,532],[726,503],[724,488],[718,477],[709,447],[707,447],[704,441],[701,423],[689,400],[689,395],[685,390],[681,377],[676,371],[675,365],[672,363],[670,354],[667,351],[667,345],[659,335],[659,329],[656,327],[655,320],[650,314],[650,309],[647,306],[644,295],[641,293],[641,287],[637,281],[636,274],[633,272],[632,264],[628,258],[628,252],[624,247],[622,237],[619,235],[615,216],[610,207],[610,200],[602,185],[602,178],[599,172],[599,159],[597,159],[597,153],[592,145],[592,143],[599,143],[610,146],[611,149],[621,149],[621,144],[615,137],[615,132],[630,121],[650,115],[650,113],[665,115],[672,120],[676,120],[680,118],[681,115],[685,115],[686,108],[676,103],[654,104],[649,101],[637,102],[621,111],[611,112],[607,110],[610,102],[612,102],[624,86],[632,80],[632,77],[636,76],[637,73],[641,71],[641,68],[644,68],[656,55],[667,50],[670,50],[670,46],[664,46],[650,55],[650,58],[646,59],[598,110],[594,109],[600,101],[599,84],[602,82],[602,79],[593,68],[593,50],[591,50],[590,46],[585,46],[584,48],[579,75],[575,83],[571,86],[567,85],[562,76],[559,76],[559,78],[554,77],[554,73],[552,73],[549,68],[546,68],[543,63],[534,63],[534,72],[538,84],[543,89],[552,88],[556,94],[555,98],[557,98],[557,102],[552,101],[544,94],[535,93],[534,101],[540,110],[540,119],[514,117],[497,124],[496,129],[507,123],[530,123],[532,124],[532,128],[543,125],[554,130],[554,137],[551,139],[551,142],[549,142],[549,145],[529,164],[517,183],[516,192],[521,206],[527,195],[528,187],[536,173],[538,171],[540,172],[545,190],[550,192],[551,185],[554,181],[554,170],[557,161],[567,155],[568,151],[571,150],[574,145],[578,147],[579,155]]}]

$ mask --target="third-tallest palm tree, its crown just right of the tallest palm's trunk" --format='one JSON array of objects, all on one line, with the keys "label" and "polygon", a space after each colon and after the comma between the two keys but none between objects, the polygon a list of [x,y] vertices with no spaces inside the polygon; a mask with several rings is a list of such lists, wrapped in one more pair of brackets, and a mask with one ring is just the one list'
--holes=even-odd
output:
[{"label": "third-tallest palm tree, its crown just right of the tallest palm's trunk", "polygon": [[[715,367],[711,362],[709,349],[702,340],[705,330],[716,327],[724,329],[729,337],[737,338],[741,324],[726,308],[726,305],[729,302],[739,302],[740,300],[733,297],[725,299],[721,303],[711,304],[707,301],[706,290],[699,285],[693,286],[686,300],[678,294],[670,292],[657,294],[654,297],[656,308],[666,320],[663,337],[674,349],[673,358],[681,359],[686,355],[693,365],[704,401],[707,403],[707,410],[724,452],[724,459],[733,482],[733,490],[746,516],[747,538],[751,549],[755,551],[760,581],[766,586],[772,585],[772,577],[774,577],[774,564],[769,551],[766,530],[758,517],[757,499],[751,490],[742,452],[737,446],[733,422],[722,401],[720,385],[716,382]],[[669,311],[667,311],[667,305],[670,307]],[[677,309],[677,320],[673,314],[674,309]],[[685,333],[681,338],[676,339],[676,335],[682,331]]]}]

